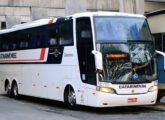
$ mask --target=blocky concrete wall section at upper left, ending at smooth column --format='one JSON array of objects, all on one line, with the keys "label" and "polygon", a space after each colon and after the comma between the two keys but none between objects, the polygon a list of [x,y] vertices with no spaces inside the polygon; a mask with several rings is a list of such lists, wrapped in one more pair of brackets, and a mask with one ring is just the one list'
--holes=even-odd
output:
[{"label": "blocky concrete wall section at upper left, ending at smooth column", "polygon": [[0,22],[10,28],[21,22],[65,16],[65,5],[66,0],[0,0]]}]

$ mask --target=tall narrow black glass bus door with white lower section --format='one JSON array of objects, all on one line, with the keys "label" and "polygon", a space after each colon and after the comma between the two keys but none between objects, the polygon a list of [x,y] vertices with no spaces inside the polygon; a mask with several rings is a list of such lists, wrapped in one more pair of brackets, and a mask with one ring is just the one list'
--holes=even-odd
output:
[{"label": "tall narrow black glass bus door with white lower section", "polygon": [[84,101],[87,101],[87,92],[95,88],[96,85],[96,68],[94,55],[92,54],[93,38],[90,18],[85,17],[76,20],[76,35],[80,78],[83,82],[81,90],[83,93],[80,96],[80,101],[82,104],[86,104]]}]

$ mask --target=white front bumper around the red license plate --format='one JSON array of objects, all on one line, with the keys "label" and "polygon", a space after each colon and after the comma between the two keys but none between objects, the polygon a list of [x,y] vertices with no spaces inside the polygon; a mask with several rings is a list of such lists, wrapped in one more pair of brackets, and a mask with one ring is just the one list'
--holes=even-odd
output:
[{"label": "white front bumper around the red license plate", "polygon": [[[156,103],[157,94],[158,91],[134,95],[117,95],[97,92],[94,98],[95,100],[92,100],[92,102],[88,101],[88,105],[93,107],[151,105]],[[130,102],[128,99],[137,99],[137,101]]]}]

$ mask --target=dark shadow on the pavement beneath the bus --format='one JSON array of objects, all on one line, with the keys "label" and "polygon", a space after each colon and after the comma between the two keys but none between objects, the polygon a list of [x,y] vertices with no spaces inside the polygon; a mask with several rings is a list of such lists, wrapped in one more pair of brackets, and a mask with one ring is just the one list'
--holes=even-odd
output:
[{"label": "dark shadow on the pavement beneath the bus", "polygon": [[[58,102],[54,100],[47,100],[47,99],[41,99],[36,97],[29,97],[29,96],[20,96],[18,101],[27,102],[27,103],[35,103],[47,107],[51,107],[51,109],[46,109],[43,111],[46,112],[57,112],[57,109],[60,109],[60,111],[73,111],[69,110],[66,105],[63,102]],[[165,112],[165,110],[157,109],[157,105],[163,105],[165,107],[165,104],[157,103],[152,106],[131,106],[131,107],[112,107],[112,108],[93,108],[93,107],[86,107],[86,106],[78,106],[74,112],[86,112],[91,114],[111,114],[111,115],[117,115],[117,114],[140,114],[140,113],[149,113],[149,112]]]}]

